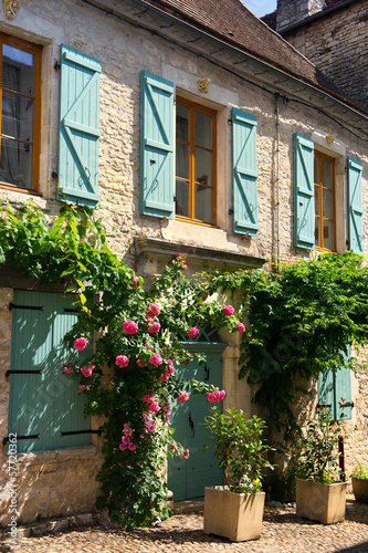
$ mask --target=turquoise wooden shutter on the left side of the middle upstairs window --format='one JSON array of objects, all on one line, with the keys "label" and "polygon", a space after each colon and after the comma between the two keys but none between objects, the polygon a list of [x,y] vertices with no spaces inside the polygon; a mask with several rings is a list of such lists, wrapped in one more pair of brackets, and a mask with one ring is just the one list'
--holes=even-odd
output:
[{"label": "turquoise wooden shutter on the left side of the middle upstairs window", "polygon": [[174,219],[174,84],[141,72],[140,212]]}]

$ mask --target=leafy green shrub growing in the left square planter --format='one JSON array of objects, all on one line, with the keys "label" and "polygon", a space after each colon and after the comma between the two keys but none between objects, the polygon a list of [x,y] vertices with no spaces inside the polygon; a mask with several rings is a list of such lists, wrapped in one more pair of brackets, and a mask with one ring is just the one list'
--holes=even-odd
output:
[{"label": "leafy green shrub growing in the left square planter", "polygon": [[223,471],[230,491],[256,493],[262,490],[262,469],[273,468],[265,455],[270,447],[264,442],[264,420],[255,415],[248,419],[242,410],[228,409],[221,414],[215,406],[206,417],[213,453]]}]

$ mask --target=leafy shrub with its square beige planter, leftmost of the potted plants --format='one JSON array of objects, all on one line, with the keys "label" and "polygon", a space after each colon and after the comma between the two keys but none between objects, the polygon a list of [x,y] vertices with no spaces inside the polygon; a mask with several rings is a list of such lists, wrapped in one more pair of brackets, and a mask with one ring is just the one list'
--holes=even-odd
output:
[{"label": "leafy shrub with its square beige planter, leftmost of the potted plants", "polygon": [[262,439],[265,422],[255,416],[246,419],[238,409],[221,414],[214,406],[206,425],[224,486],[204,489],[203,531],[233,542],[259,539],[265,497],[261,470],[273,468],[265,458],[270,447]]}]

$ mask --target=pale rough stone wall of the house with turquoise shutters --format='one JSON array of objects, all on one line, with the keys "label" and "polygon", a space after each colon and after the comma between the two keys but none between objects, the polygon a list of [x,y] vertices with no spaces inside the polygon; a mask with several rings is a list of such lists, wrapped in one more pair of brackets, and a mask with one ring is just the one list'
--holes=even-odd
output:
[{"label": "pale rough stone wall of the house with turquoise shutters", "polygon": [[[337,251],[346,249],[347,156],[361,160],[364,167],[364,205],[368,206],[367,126],[350,112],[339,109],[329,100],[314,95],[301,83],[275,77],[272,72],[242,61],[229,51],[219,53],[212,43],[193,40],[190,30],[165,27],[158,15],[137,12],[130,2],[74,0],[48,2],[22,0],[9,21],[0,9],[0,31],[43,45],[42,59],[42,144],[40,191],[42,197],[0,188],[0,198],[20,205],[32,199],[50,218],[57,213],[59,85],[60,45],[65,43],[98,59],[101,75],[101,145],[98,216],[107,230],[108,246],[147,280],[159,272],[162,263],[180,247],[188,250],[188,264],[200,270],[211,260],[212,267],[260,267],[263,260],[280,255],[294,262],[313,253],[294,247],[294,133],[313,138],[315,145],[336,159],[338,199]],[[105,8],[106,9],[105,9]],[[238,54],[236,54],[238,55]],[[235,65],[238,63],[238,65]],[[218,226],[202,227],[179,220],[159,220],[139,213],[140,149],[140,71],[147,70],[172,81],[176,93],[207,105],[218,114]],[[208,92],[199,81],[209,80]],[[273,84],[276,82],[276,84]],[[277,94],[276,94],[277,93]],[[280,96],[282,93],[282,96]],[[333,105],[333,107],[332,107]],[[231,108],[240,107],[257,118],[259,222],[256,237],[241,237],[232,231],[232,153],[229,124]],[[359,131],[357,129],[359,128]],[[327,137],[333,137],[333,142]],[[360,138],[361,137],[361,138]],[[364,226],[368,226],[368,209]],[[146,240],[148,249],[136,248],[134,239]],[[153,244],[162,246],[153,250]],[[151,249],[149,248],[151,246]],[[368,250],[368,237],[365,238]],[[208,258],[211,258],[210,260]],[[219,261],[220,260],[220,261]],[[252,264],[253,263],[253,264]],[[11,313],[7,309],[14,284],[11,280],[0,290],[0,369],[10,366]],[[21,281],[18,288],[28,288]],[[223,382],[229,388],[228,401],[250,411],[252,392],[236,379],[238,344],[230,341],[224,353]],[[360,441],[367,431],[368,383],[366,373],[357,375],[359,419],[351,432],[349,455],[360,455]],[[9,383],[0,383],[2,435],[7,435]],[[358,396],[357,396],[358,397]],[[356,438],[357,436],[357,438]],[[365,459],[364,452],[361,458]],[[19,456],[21,519],[32,521],[92,509],[98,487],[94,476],[101,462],[99,444],[88,448],[24,453]],[[0,450],[0,513],[7,523],[9,505],[8,458]],[[77,493],[75,493],[77,490]],[[36,499],[38,498],[38,499]],[[57,501],[56,501],[57,499]]]}]

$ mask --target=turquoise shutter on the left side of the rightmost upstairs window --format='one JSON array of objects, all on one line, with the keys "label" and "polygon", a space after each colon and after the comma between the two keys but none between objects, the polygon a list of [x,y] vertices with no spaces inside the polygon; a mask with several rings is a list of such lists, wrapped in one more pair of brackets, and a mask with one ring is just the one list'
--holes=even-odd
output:
[{"label": "turquoise shutter on the left side of the rightmost upstairs window", "polygon": [[313,250],[314,237],[314,143],[294,134],[295,246]]}]

